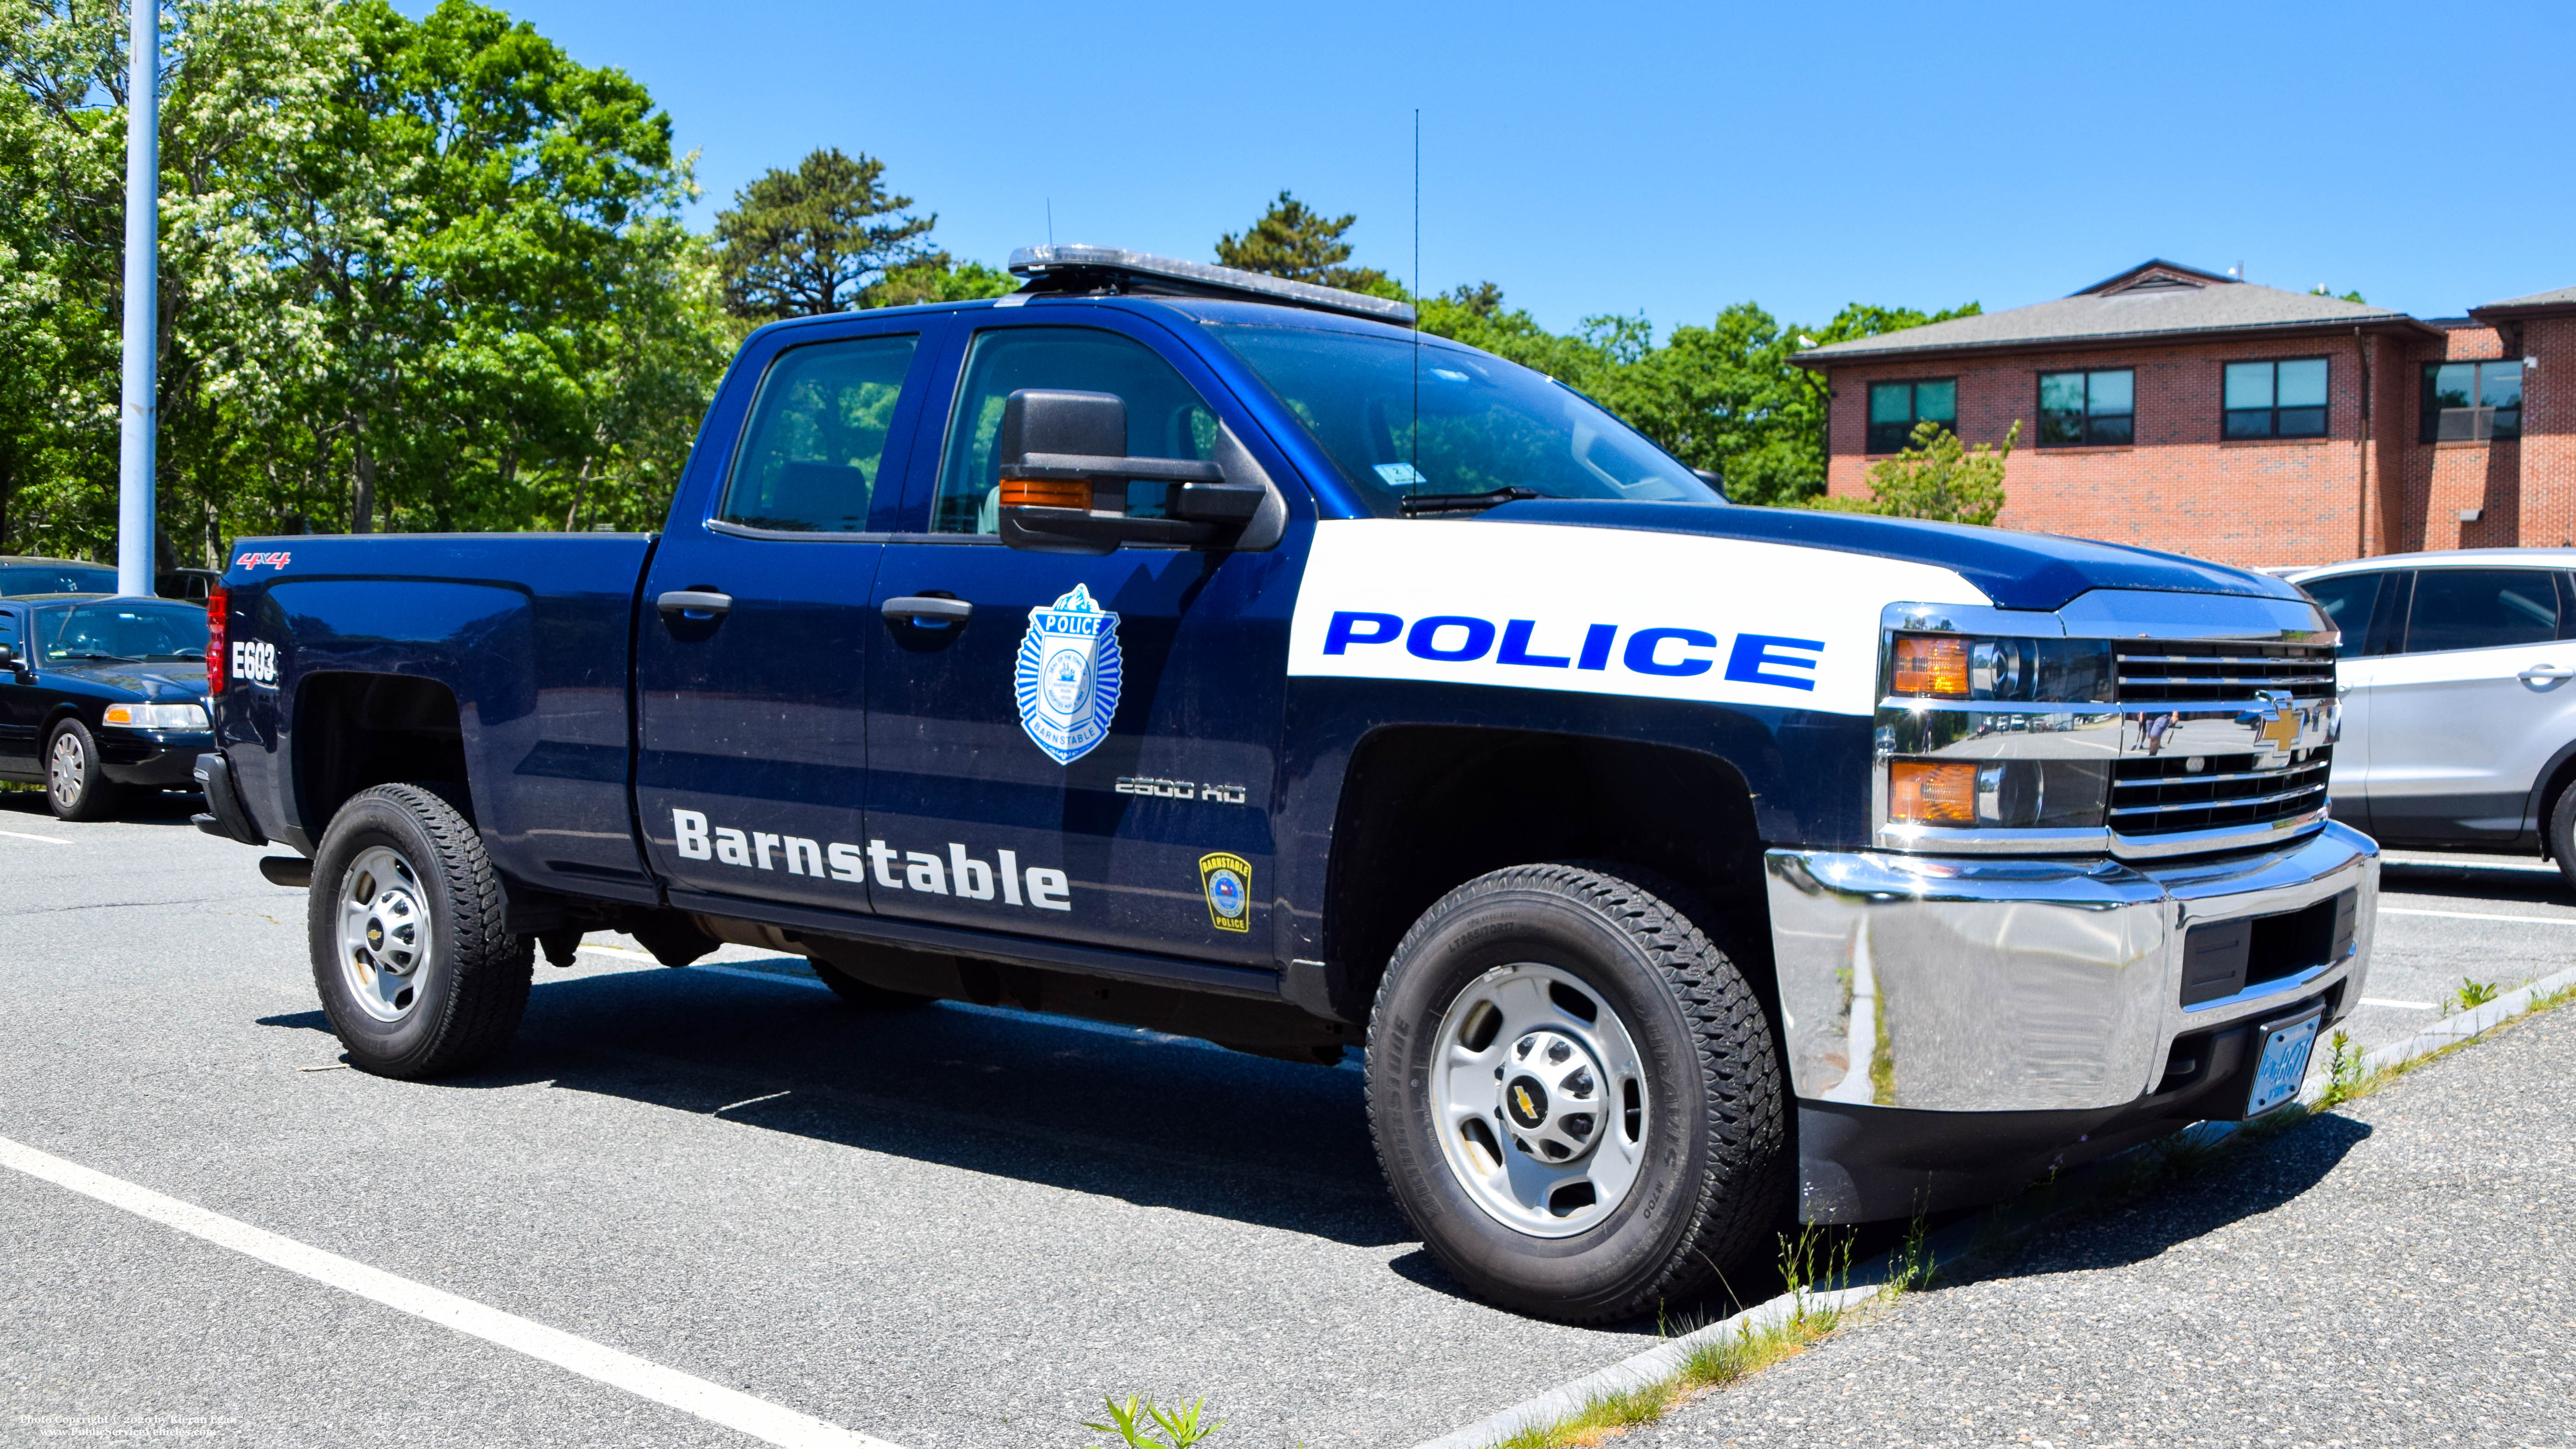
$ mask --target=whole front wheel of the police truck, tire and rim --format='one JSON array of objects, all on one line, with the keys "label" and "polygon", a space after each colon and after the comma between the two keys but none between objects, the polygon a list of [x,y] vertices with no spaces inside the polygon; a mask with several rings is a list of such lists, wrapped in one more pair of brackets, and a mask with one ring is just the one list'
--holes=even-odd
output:
[{"label": "whole front wheel of the police truck, tire and rim", "polygon": [[1546,1318],[1698,1295],[1790,1207],[1762,1004],[1680,906],[1602,870],[1497,870],[1422,914],[1370,1014],[1368,1117],[1432,1256]]}]

